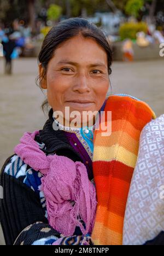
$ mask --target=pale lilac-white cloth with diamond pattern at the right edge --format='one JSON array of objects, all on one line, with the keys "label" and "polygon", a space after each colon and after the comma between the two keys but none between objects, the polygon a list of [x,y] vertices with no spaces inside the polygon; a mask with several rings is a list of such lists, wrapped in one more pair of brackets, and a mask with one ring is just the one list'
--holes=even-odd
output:
[{"label": "pale lilac-white cloth with diamond pattern at the right edge", "polygon": [[164,115],[147,124],[141,135],[126,205],[123,245],[143,245],[164,230]]}]

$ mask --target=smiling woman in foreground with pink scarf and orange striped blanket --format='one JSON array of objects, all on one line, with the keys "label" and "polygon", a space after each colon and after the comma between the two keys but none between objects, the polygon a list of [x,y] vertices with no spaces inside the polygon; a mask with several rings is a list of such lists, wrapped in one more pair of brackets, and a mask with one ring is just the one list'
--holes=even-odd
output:
[{"label": "smiling woman in foreground with pink scarf and orange striped blanket", "polygon": [[[112,51],[102,31],[85,19],[53,27],[38,60],[49,119],[42,130],[25,132],[2,168],[5,241],[121,245],[139,136],[154,113],[136,98],[107,97]],[[78,115],[76,125],[67,108]],[[111,111],[112,122],[106,117]],[[111,136],[100,123],[112,123]]]}]

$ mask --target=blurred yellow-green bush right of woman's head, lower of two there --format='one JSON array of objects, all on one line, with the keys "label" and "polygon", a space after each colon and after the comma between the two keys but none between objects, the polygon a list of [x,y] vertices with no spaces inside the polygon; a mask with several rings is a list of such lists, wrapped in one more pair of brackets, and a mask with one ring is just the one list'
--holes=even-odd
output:
[{"label": "blurred yellow-green bush right of woman's head, lower of two there", "polygon": [[121,40],[124,39],[136,39],[137,32],[143,31],[147,33],[148,26],[145,22],[127,22],[120,26],[120,37]]}]

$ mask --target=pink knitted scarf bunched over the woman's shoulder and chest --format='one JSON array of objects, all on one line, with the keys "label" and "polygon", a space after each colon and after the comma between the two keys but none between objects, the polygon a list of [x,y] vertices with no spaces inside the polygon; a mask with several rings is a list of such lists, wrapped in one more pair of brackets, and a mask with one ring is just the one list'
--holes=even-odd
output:
[{"label": "pink knitted scarf bunched over the woman's shoulder and chest", "polygon": [[65,156],[46,156],[34,141],[38,134],[39,131],[25,132],[14,152],[43,174],[40,190],[46,199],[49,224],[65,236],[73,235],[76,226],[83,235],[91,234],[97,206],[96,188],[89,181],[85,165]]}]

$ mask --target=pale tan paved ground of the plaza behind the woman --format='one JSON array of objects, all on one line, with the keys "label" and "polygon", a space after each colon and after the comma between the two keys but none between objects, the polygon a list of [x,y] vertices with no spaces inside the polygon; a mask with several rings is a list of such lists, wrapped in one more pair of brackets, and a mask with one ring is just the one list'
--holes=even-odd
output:
[{"label": "pale tan paved ground of the plaza behind the woman", "polygon": [[[0,58],[0,168],[13,154],[25,131],[42,129],[46,116],[40,110],[42,91],[34,83],[37,59],[14,61],[14,74],[3,75]],[[164,114],[164,58],[157,61],[115,62],[111,77],[114,93],[126,93],[146,101],[157,115]],[[0,227],[0,245],[3,243]]]}]

